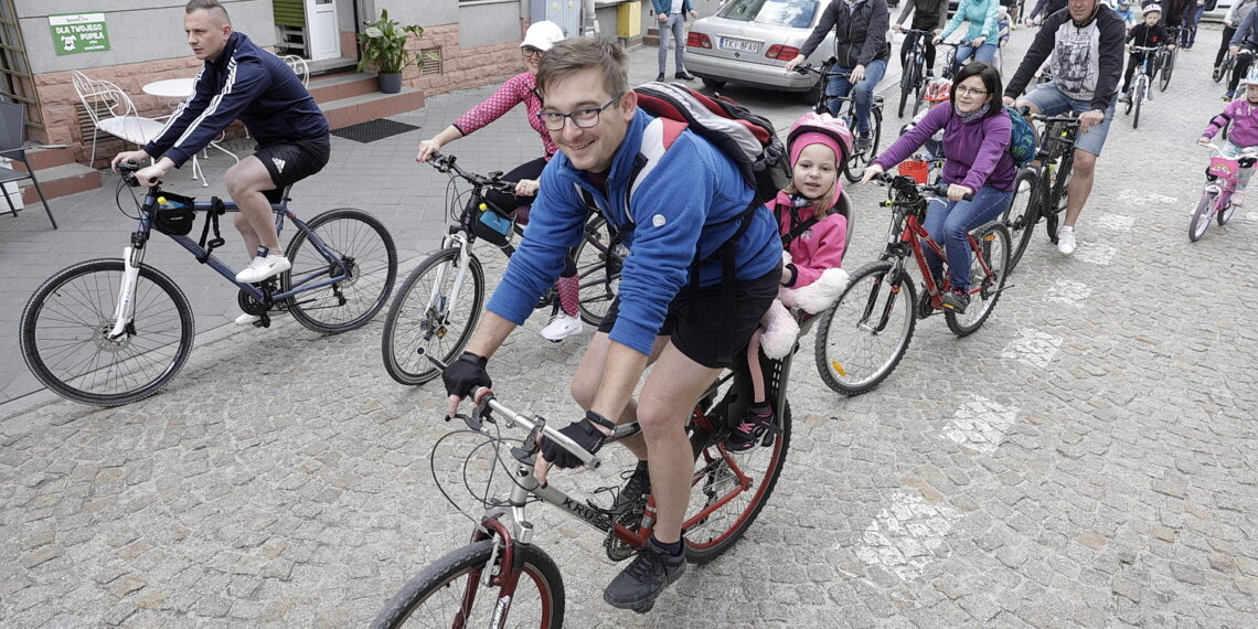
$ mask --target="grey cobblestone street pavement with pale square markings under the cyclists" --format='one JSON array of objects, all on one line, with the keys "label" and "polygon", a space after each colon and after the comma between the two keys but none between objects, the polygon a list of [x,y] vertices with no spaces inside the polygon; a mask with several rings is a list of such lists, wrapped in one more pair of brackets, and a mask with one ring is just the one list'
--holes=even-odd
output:
[{"label": "grey cobblestone street pavement with pale square markings under the cyclists", "polygon": [[[1028,40],[1019,30],[1014,45]],[[1185,233],[1206,159],[1191,143],[1220,108],[1210,48],[1180,57],[1140,131],[1120,113],[1077,254],[1037,235],[981,331],[922,322],[897,372],[854,399],[821,385],[805,340],[777,491],[733,550],[692,566],[650,614],[606,606],[620,565],[603,540],[533,508],[536,542],[564,570],[567,625],[1258,626],[1258,214],[1242,209],[1199,243]],[[654,74],[654,50],[633,58],[637,79]],[[434,130],[486,93],[401,118]],[[803,111],[731,93],[782,127]],[[522,117],[497,127],[455,145],[468,166],[506,169],[536,142]],[[440,221],[443,181],[409,165],[416,137],[345,162],[408,177],[357,190],[379,199],[408,257],[437,238],[418,225]],[[367,155],[356,150],[337,145]],[[390,200],[398,186],[405,203]],[[854,268],[886,225],[879,189],[853,195]],[[430,203],[424,223],[414,203]],[[497,390],[575,416],[566,381],[582,345],[542,342],[543,323],[493,360]],[[430,452],[450,429],[442,395],[385,375],[381,326],[321,337],[284,317],[203,337],[137,404],[44,392],[0,406],[0,625],[365,625],[470,532],[430,464],[473,509],[457,484],[469,443]],[[608,484],[629,464],[608,455],[605,472],[556,483]],[[472,468],[483,482],[484,462]]]}]

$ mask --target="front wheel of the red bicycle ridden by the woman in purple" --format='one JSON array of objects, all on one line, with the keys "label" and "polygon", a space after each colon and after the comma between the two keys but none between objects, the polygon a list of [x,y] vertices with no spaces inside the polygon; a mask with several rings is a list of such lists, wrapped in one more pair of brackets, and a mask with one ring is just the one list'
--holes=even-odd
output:
[{"label": "front wheel of the red bicycle ridden by the woman in purple", "polygon": [[816,325],[814,357],[825,386],[860,395],[878,386],[908,351],[917,325],[917,291],[905,274],[892,286],[887,260],[866,264]]}]

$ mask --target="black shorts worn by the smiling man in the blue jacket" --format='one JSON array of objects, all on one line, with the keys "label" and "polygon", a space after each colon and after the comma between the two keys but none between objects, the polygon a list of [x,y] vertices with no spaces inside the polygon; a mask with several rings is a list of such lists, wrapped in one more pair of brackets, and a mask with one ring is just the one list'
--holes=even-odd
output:
[{"label": "black shorts worn by the smiling man in the blue jacket", "polygon": [[[781,265],[756,279],[737,282],[737,306],[735,312],[721,316],[721,283],[698,289],[698,298],[689,284],[678,291],[668,304],[668,314],[659,330],[660,336],[671,337],[673,345],[687,359],[704,367],[728,367],[731,362],[721,361],[718,352],[725,341],[732,356],[731,360],[746,360],[751,333],[760,327],[760,320],[769,312],[769,306],[777,298],[781,282]],[[696,309],[697,308],[697,309]],[[696,309],[693,316],[692,309]],[[610,333],[620,313],[620,297],[611,302],[608,316],[599,325],[599,332]]]}]

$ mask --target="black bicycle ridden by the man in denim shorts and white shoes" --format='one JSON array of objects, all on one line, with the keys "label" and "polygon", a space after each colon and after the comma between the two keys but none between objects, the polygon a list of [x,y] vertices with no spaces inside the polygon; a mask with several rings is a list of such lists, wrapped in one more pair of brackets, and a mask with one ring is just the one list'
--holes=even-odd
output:
[{"label": "black bicycle ridden by the man in denim shorts and white shoes", "polygon": [[1023,108],[1029,121],[1044,125],[1039,133],[1035,161],[1018,171],[1014,180],[1014,198],[1001,216],[1001,223],[1013,237],[1013,255],[1009,270],[1018,265],[1032,228],[1043,218],[1048,239],[1057,244],[1058,215],[1066,210],[1074,166],[1074,141],[1079,133],[1079,120],[1073,114],[1040,116]]}]

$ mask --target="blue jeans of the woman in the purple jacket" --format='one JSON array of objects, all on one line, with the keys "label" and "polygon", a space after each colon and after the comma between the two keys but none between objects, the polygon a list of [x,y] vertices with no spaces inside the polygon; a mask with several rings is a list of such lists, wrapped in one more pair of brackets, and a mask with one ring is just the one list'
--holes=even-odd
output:
[{"label": "blue jeans of the woman in the purple jacket", "polygon": [[[970,265],[974,262],[967,238],[970,230],[1000,216],[1013,198],[1013,190],[982,186],[969,201],[947,201],[946,199],[931,201],[930,210],[926,213],[926,223],[922,226],[936,243],[944,244],[944,254],[947,255],[947,265],[952,276],[952,288],[957,291],[970,289]],[[925,249],[926,265],[930,267],[931,276],[942,277],[944,267],[940,257],[925,242],[922,249]]]}]

